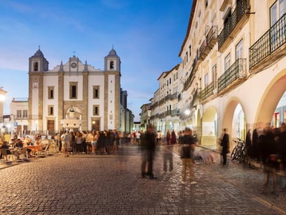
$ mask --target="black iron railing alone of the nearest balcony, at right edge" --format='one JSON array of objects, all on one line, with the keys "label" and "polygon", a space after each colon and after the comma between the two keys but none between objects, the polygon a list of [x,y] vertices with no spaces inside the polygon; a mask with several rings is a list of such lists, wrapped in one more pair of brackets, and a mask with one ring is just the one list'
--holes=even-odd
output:
[{"label": "black iron railing alone of the nearest balcony, at right edge", "polygon": [[286,42],[286,14],[249,48],[249,68],[259,64]]}]

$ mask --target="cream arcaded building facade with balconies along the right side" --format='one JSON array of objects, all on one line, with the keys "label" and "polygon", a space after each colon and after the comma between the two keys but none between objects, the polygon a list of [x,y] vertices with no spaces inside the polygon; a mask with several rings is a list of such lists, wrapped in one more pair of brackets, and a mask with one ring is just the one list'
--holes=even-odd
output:
[{"label": "cream arcaded building facade with balconies along the right side", "polygon": [[[244,139],[258,122],[286,122],[286,114],[276,113],[285,104],[285,20],[286,0],[193,1],[179,54],[179,129],[193,128],[200,144],[216,149],[223,128],[231,138]],[[163,106],[160,113],[152,109],[151,118],[162,115]],[[169,119],[175,121],[160,120]]]}]

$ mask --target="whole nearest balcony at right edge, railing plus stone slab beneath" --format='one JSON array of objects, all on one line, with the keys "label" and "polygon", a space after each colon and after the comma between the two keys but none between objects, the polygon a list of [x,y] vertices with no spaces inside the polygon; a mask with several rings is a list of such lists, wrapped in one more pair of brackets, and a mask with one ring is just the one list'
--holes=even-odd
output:
[{"label": "whole nearest balcony at right edge, railing plus stone slab beneath", "polygon": [[286,14],[249,48],[249,68],[260,71],[285,56]]}]

